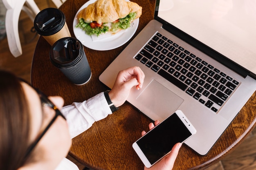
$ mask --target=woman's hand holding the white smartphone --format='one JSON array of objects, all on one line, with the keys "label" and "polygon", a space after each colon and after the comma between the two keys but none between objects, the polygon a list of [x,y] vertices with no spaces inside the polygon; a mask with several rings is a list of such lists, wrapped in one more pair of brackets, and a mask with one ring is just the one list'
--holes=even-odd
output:
[{"label": "woman's hand holding the white smartphone", "polygon": [[[150,123],[149,129],[153,129],[157,124],[160,122],[158,120],[155,121],[155,125],[153,123]],[[142,131],[141,135],[145,135],[146,132]],[[181,143],[177,143],[173,146],[171,153],[163,157],[159,162],[157,162],[155,165],[153,165],[151,168],[144,167],[144,170],[171,170],[173,169],[173,164],[175,162],[175,159],[179,153],[180,147],[182,146]]]}]

